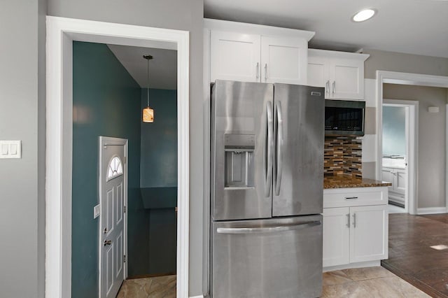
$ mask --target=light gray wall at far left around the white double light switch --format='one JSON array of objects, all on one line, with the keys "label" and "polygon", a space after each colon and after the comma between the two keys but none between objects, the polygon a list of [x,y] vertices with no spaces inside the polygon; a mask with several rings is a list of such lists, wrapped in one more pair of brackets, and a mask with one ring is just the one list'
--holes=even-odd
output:
[{"label": "light gray wall at far left around the white double light switch", "polygon": [[45,281],[45,12],[43,0],[0,3],[0,296],[43,297]]}]

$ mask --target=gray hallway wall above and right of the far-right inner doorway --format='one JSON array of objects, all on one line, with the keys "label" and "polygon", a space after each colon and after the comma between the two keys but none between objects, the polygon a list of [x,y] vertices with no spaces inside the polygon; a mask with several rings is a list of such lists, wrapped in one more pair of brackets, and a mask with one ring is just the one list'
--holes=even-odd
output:
[{"label": "gray hallway wall above and right of the far-right inner doorway", "polygon": [[[419,101],[418,208],[445,206],[447,89],[384,84],[384,98]],[[428,106],[440,112],[428,113]]]}]

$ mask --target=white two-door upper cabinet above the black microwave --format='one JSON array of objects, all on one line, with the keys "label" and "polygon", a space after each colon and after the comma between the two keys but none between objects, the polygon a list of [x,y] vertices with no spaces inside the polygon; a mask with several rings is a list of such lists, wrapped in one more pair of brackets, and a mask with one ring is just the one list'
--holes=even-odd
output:
[{"label": "white two-door upper cabinet above the black microwave", "polygon": [[366,54],[308,50],[308,85],[325,87],[325,99],[364,99]]}]

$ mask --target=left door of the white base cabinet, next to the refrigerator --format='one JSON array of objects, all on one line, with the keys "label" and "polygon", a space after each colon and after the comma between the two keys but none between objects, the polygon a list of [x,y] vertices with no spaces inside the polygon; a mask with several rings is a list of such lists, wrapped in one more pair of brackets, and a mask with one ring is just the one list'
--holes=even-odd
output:
[{"label": "left door of the white base cabinet, next to the refrigerator", "polygon": [[323,267],[350,262],[349,207],[323,209]]}]

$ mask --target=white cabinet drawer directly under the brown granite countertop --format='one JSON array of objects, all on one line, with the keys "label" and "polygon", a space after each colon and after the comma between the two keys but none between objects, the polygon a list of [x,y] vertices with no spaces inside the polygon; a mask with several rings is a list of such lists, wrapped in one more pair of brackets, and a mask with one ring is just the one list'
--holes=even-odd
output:
[{"label": "white cabinet drawer directly under the brown granite countertop", "polygon": [[323,190],[323,208],[387,204],[387,187],[353,187]]}]

